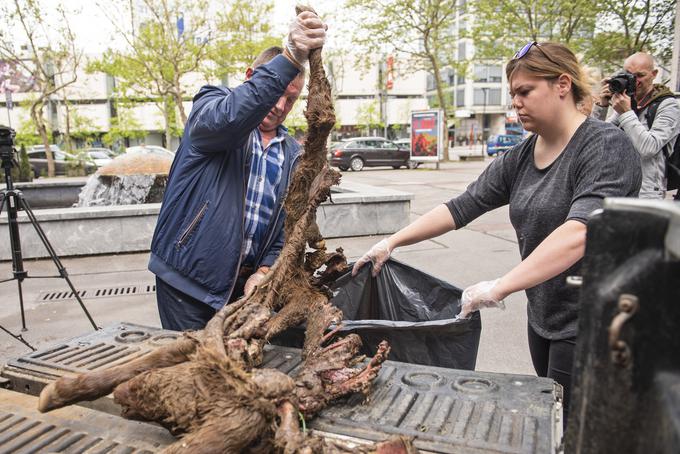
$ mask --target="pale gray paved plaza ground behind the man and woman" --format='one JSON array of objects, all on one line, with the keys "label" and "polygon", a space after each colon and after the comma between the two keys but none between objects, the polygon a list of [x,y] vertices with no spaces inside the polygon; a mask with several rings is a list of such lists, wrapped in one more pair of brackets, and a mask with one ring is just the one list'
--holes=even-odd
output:
[{"label": "pale gray paved plaza ground behind the man and woman", "polygon": [[[415,170],[365,169],[362,172],[344,172],[343,178],[413,193],[411,220],[414,220],[464,191],[489,162],[487,159],[485,162],[444,163],[439,171],[435,171],[432,164]],[[356,259],[381,238],[339,238],[328,243],[331,248],[342,246],[348,258]],[[50,240],[58,241],[57,238]],[[394,256],[458,287],[499,277],[519,261],[507,208],[488,213],[457,232],[401,248]],[[97,289],[113,291],[111,289],[131,287],[137,292],[144,292],[147,285],[154,283],[154,276],[146,269],[147,261],[148,253],[62,258],[76,288],[87,293]],[[50,260],[29,260],[24,265],[30,276],[56,274]],[[1,262],[0,277],[9,276],[11,263]],[[92,329],[76,300],[60,300],[59,295],[55,295],[68,290],[63,279],[28,279],[23,287],[28,327],[23,334],[34,346],[44,347]],[[57,298],[41,300],[46,293]],[[160,326],[153,293],[86,297],[84,302],[100,326],[119,321]],[[20,332],[15,282],[0,284],[0,325]],[[505,311],[483,311],[482,326],[478,370],[533,374],[526,339],[526,300],[523,293],[512,295]],[[0,332],[0,364],[26,353],[26,347]]]}]

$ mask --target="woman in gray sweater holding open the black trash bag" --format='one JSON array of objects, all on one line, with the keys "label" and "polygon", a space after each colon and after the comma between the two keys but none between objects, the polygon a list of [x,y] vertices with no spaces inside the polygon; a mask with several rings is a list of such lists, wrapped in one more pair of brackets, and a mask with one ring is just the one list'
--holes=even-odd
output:
[{"label": "woman in gray sweater holding open the black trash bag", "polygon": [[605,197],[638,195],[640,157],[621,130],[577,109],[590,86],[567,47],[529,43],[506,73],[513,107],[534,134],[494,159],[459,197],[373,246],[354,272],[370,261],[375,275],[395,248],[509,205],[522,261],[498,279],[465,289],[460,316],[501,306],[524,290],[534,368],[564,387],[566,415],[579,312],[578,290],[566,286],[566,276],[579,274],[590,213]]}]

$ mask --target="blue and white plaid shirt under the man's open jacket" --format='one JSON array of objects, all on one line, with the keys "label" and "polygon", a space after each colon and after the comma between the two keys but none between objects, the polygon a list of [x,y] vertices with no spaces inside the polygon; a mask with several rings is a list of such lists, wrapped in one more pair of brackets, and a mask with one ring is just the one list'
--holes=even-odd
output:
[{"label": "blue and white plaid shirt under the man's open jacket", "polygon": [[255,129],[253,156],[246,192],[246,223],[243,256],[245,265],[254,266],[259,248],[263,246],[269,222],[276,206],[276,194],[283,169],[284,153],[281,142],[288,129],[279,126],[277,135],[262,149],[262,135]]}]

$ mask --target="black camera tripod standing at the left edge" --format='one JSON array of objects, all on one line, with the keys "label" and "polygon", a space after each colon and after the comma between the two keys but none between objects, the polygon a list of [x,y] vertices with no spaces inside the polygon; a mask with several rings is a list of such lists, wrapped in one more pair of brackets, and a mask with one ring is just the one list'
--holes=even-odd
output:
[{"label": "black camera tripod standing at the left edge", "polygon": [[[11,148],[10,148],[11,150]],[[5,171],[5,184],[6,188],[3,191],[0,191],[0,212],[2,209],[7,206],[7,217],[9,220],[8,227],[9,227],[9,240],[10,240],[10,247],[11,247],[11,253],[12,253],[12,274],[13,276],[9,279],[4,279],[0,280],[0,284],[4,282],[9,282],[16,280],[17,285],[19,287],[19,307],[21,309],[21,331],[24,332],[26,331],[26,315],[24,312],[24,296],[23,296],[23,291],[21,288],[21,284],[24,281],[24,279],[29,279],[29,278],[62,278],[64,279],[67,283],[68,286],[71,288],[71,292],[75,296],[75,298],[78,300],[78,304],[80,304],[80,307],[83,309],[83,312],[85,312],[85,315],[87,316],[87,319],[90,321],[92,324],[92,327],[97,330],[99,327],[96,325],[94,320],[92,319],[92,316],[88,312],[87,308],[85,307],[85,304],[83,304],[83,300],[80,298],[80,295],[76,291],[75,287],[73,286],[73,283],[71,282],[71,279],[68,277],[68,272],[66,271],[66,268],[64,268],[64,265],[62,265],[61,260],[59,260],[59,257],[57,256],[56,252],[54,251],[54,248],[50,244],[49,240],[47,239],[47,236],[45,235],[45,232],[43,231],[42,227],[40,227],[40,224],[38,224],[38,220],[36,219],[35,215],[33,214],[33,211],[31,210],[31,207],[28,205],[28,202],[24,198],[23,193],[14,188],[14,184],[12,182],[12,166],[13,166],[13,159],[12,159],[12,153],[0,153],[0,158],[2,158],[2,168]],[[45,246],[45,249],[47,249],[47,252],[50,254],[50,257],[52,258],[52,261],[57,267],[57,270],[59,271],[59,275],[57,276],[29,276],[28,272],[24,269],[24,262],[23,262],[23,256],[21,253],[21,239],[19,237],[19,223],[17,222],[17,213],[18,211],[22,209],[26,213],[26,216],[28,219],[31,221],[31,224],[35,228],[36,233],[38,234],[38,237],[42,241],[43,245]],[[19,342],[23,343],[30,349],[35,351],[35,348],[33,348],[26,340],[21,336],[21,334],[13,334],[9,330],[5,329],[3,326],[0,326],[0,329],[2,329],[4,332],[18,340]]]}]

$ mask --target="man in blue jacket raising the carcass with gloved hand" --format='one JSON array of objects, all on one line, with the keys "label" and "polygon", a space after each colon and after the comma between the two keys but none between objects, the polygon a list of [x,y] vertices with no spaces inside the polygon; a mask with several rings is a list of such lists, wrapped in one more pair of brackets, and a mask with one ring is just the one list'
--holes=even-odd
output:
[{"label": "man in blue jacket raising the carcass with gloved hand", "polygon": [[177,150],[151,244],[163,328],[201,329],[248,294],[283,246],[283,201],[300,147],[282,125],[325,25],[303,12],[285,49],[263,52],[230,90],[205,86]]}]

